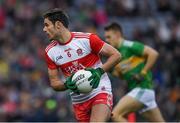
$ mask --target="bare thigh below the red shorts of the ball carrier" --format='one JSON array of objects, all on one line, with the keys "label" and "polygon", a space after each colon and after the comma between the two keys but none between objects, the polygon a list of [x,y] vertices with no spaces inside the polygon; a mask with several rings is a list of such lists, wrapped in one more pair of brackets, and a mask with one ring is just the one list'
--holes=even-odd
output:
[{"label": "bare thigh below the red shorts of the ball carrier", "polygon": [[111,110],[106,104],[96,104],[92,107],[90,122],[105,122],[110,119]]}]

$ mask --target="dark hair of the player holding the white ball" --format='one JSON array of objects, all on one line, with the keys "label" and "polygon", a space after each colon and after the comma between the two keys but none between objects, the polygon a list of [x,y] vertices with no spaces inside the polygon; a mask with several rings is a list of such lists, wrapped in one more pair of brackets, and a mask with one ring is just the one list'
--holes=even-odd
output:
[{"label": "dark hair of the player holding the white ball", "polygon": [[67,14],[59,8],[48,10],[43,14],[43,18],[48,18],[53,24],[60,21],[66,28],[69,25],[69,18]]}]

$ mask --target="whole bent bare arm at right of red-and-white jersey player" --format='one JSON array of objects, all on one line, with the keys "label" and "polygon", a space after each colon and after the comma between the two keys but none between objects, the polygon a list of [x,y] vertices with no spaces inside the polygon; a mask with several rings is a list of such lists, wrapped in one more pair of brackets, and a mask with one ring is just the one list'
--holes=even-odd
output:
[{"label": "whole bent bare arm at right of red-and-white jersey player", "polygon": [[104,71],[109,71],[112,67],[118,64],[121,59],[121,54],[109,44],[104,44],[100,55],[105,55],[109,57],[102,66],[102,69]]}]

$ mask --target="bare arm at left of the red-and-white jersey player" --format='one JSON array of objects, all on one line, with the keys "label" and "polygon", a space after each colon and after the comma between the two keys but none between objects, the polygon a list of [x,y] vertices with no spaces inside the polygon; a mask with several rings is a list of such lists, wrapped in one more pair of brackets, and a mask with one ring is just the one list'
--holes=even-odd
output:
[{"label": "bare arm at left of the red-and-white jersey player", "polygon": [[58,77],[57,69],[54,69],[54,70],[48,69],[48,74],[49,74],[49,79],[50,79],[50,85],[54,90],[56,91],[66,90],[64,83]]}]

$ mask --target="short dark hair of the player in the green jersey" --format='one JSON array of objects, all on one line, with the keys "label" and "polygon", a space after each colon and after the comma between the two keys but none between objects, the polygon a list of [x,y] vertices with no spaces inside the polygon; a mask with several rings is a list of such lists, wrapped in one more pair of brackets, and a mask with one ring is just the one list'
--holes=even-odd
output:
[{"label": "short dark hair of the player in the green jersey", "polygon": [[121,25],[116,22],[113,22],[113,23],[107,25],[106,27],[104,27],[104,30],[105,31],[109,31],[109,30],[119,31],[123,35]]}]

